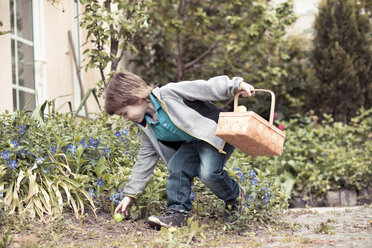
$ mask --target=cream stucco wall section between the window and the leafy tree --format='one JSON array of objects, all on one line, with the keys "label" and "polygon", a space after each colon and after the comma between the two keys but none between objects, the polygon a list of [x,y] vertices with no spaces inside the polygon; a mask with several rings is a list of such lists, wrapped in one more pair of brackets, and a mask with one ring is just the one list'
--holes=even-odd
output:
[{"label": "cream stucco wall section between the window and the leafy tree", "polygon": [[[64,1],[63,10],[50,4],[45,5],[45,30],[46,30],[46,44],[47,44],[47,97],[53,99],[56,97],[70,95],[67,97],[58,98],[56,100],[57,106],[71,101],[73,106],[77,106],[79,102],[75,102],[74,87],[74,60],[69,44],[68,31],[73,28],[73,13],[72,1]],[[81,32],[81,43],[84,43],[84,32]],[[83,90],[94,87],[99,80],[99,73],[97,70],[81,70],[81,79],[83,82]],[[65,104],[61,111],[68,111],[68,106]],[[95,103],[93,96],[88,99],[88,111],[98,111],[98,106]]]}]

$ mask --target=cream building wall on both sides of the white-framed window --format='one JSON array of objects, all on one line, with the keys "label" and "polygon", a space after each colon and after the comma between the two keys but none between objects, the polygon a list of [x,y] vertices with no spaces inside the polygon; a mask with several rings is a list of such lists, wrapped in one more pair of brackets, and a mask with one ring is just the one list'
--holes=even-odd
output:
[{"label": "cream building wall on both sides of the white-framed window", "polygon": [[[40,91],[38,94],[42,100],[56,99],[56,107],[59,111],[69,111],[67,102],[71,102],[76,110],[80,103],[80,92],[76,77],[73,54],[68,39],[68,31],[74,29],[73,0],[61,1],[60,5],[51,5],[46,0],[34,0],[42,2],[43,21],[43,58],[42,63],[45,66],[43,83],[38,84],[36,88]],[[0,1],[0,20],[3,22],[1,31],[10,30],[10,7],[9,0]],[[84,43],[84,32],[80,30],[80,46]],[[77,44],[74,44],[77,47]],[[12,96],[12,58],[11,58],[11,38],[10,34],[0,36],[0,112],[5,110],[13,111]],[[35,58],[35,60],[40,60]],[[38,70],[36,66],[35,70]],[[83,90],[87,91],[94,87],[100,79],[98,70],[81,70]],[[43,92],[41,94],[41,91]],[[68,96],[66,96],[68,95]],[[78,95],[78,97],[75,97]],[[41,97],[42,96],[42,97]],[[63,97],[62,97],[63,96]],[[40,99],[39,99],[40,100]],[[43,101],[39,101],[43,102]],[[88,111],[99,111],[94,98],[88,100]]]}]

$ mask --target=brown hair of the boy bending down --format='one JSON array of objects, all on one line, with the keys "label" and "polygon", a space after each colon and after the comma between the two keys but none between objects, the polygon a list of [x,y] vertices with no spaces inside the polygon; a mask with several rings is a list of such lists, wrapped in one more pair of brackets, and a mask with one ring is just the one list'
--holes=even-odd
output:
[{"label": "brown hair of the boy bending down", "polygon": [[126,72],[113,75],[106,86],[105,111],[113,115],[117,110],[149,97],[152,88],[139,76]]}]

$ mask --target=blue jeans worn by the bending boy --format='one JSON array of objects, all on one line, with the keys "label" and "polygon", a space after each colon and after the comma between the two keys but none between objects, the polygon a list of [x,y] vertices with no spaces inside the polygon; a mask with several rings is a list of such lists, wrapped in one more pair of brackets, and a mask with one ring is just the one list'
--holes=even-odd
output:
[{"label": "blue jeans worn by the bending boy", "polygon": [[223,169],[234,147],[226,143],[224,151],[226,154],[219,153],[204,141],[182,144],[168,163],[166,190],[169,210],[188,212],[192,209],[191,182],[196,176],[226,203],[236,200],[239,185]]}]

